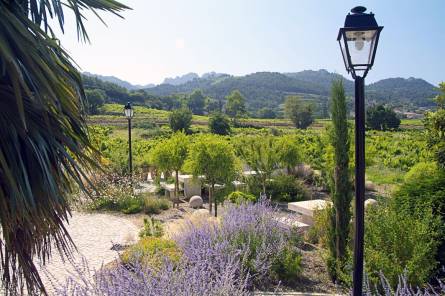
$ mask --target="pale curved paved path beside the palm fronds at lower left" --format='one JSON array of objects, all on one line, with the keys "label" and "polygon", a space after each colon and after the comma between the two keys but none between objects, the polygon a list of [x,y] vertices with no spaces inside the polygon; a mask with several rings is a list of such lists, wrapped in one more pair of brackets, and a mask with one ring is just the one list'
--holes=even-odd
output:
[{"label": "pale curved paved path beside the palm fronds at lower left", "polygon": [[[90,270],[97,270],[102,265],[113,261],[118,253],[113,245],[128,245],[137,241],[139,228],[128,216],[108,213],[74,212],[67,230],[71,235],[77,252],[73,255],[76,266],[88,263]],[[41,268],[43,281],[49,292],[53,292],[50,281],[65,283],[70,275],[76,274],[76,268],[63,260],[56,250],[44,268]]]}]

